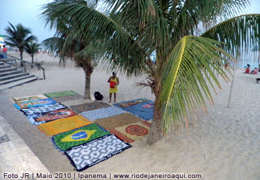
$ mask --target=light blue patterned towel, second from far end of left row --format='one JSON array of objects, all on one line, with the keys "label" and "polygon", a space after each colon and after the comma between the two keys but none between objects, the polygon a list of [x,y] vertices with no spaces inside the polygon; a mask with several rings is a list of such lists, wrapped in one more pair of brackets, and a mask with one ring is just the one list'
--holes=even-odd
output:
[{"label": "light blue patterned towel, second from far end of left row", "polygon": [[18,110],[29,108],[29,107],[38,107],[42,105],[50,105],[50,104],[55,104],[57,103],[56,101],[53,101],[53,99],[34,99],[31,101],[19,101],[16,103],[16,108]]}]

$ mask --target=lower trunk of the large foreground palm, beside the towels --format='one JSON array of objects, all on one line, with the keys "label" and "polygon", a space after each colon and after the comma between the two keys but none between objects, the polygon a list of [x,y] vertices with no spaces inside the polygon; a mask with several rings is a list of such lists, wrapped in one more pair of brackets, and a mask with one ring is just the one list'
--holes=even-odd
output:
[{"label": "lower trunk of the large foreground palm, beside the towels", "polygon": [[162,123],[162,109],[157,105],[157,98],[155,98],[155,105],[153,110],[153,121],[150,129],[150,133],[148,136],[148,144],[154,144],[158,140],[161,140],[162,133],[161,133],[161,123]]}]

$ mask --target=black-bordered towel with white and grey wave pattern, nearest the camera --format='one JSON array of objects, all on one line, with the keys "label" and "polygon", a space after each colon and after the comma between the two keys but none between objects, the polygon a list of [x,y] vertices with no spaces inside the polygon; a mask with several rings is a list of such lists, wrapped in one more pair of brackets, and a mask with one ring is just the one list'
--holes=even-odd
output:
[{"label": "black-bordered towel with white and grey wave pattern, nearest the camera", "polygon": [[113,155],[122,153],[122,151],[130,147],[130,144],[110,134],[85,144],[74,146],[66,150],[65,155],[70,159],[71,164],[73,164],[77,171],[82,171],[105,161]]}]

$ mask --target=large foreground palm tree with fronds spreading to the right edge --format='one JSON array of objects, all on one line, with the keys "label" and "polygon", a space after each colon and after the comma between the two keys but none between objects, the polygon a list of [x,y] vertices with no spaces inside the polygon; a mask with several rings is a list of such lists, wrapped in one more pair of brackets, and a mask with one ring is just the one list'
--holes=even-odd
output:
[{"label": "large foreground palm tree with fronds spreading to the right edge", "polygon": [[103,0],[109,15],[90,2],[55,0],[43,6],[42,16],[51,25],[65,16],[82,41],[89,31],[103,39],[105,68],[147,74],[142,84],[155,94],[149,144],[182,120],[188,126],[199,108],[207,110],[205,99],[213,103],[209,87],[221,88],[217,75],[229,81],[224,63],[260,44],[260,14],[238,16],[249,0]]}]

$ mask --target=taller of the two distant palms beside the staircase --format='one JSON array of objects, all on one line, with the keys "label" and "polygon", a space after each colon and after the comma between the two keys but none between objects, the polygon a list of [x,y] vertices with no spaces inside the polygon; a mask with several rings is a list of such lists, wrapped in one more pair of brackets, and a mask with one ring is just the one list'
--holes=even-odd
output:
[{"label": "taller of the two distant palms beside the staircase", "polygon": [[[21,60],[23,60],[23,51],[25,50],[25,44],[29,40],[37,40],[34,35],[31,35],[31,30],[27,27],[24,27],[20,23],[14,27],[11,23],[10,26],[5,28],[8,36],[5,37],[5,43],[10,47],[17,47],[20,52]],[[23,62],[21,61],[21,66]]]}]

